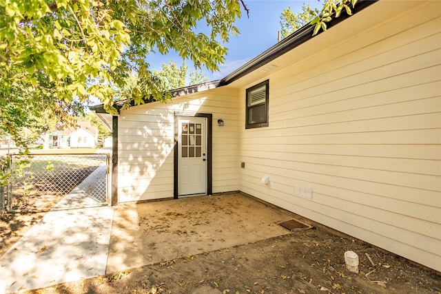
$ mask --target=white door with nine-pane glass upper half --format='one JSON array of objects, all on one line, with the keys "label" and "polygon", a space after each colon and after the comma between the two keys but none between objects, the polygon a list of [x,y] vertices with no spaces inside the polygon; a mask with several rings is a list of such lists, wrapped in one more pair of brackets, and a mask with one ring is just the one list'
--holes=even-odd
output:
[{"label": "white door with nine-pane glass upper half", "polygon": [[178,195],[207,193],[207,118],[178,118]]}]

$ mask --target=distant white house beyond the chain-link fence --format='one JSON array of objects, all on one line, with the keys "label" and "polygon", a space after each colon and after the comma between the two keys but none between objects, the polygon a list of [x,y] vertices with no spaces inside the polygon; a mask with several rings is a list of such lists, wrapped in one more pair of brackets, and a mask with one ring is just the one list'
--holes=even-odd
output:
[{"label": "distant white house beyond the chain-link fence", "polygon": [[95,148],[98,145],[98,129],[88,122],[79,121],[76,127],[57,129],[49,135],[49,147]]}]

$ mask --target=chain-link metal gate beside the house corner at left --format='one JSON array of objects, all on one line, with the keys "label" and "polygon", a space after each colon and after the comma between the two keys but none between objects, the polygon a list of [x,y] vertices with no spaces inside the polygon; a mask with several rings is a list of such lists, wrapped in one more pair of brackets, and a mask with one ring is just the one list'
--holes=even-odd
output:
[{"label": "chain-link metal gate beside the house corner at left", "polygon": [[109,154],[10,156],[8,211],[48,211],[110,203]]}]

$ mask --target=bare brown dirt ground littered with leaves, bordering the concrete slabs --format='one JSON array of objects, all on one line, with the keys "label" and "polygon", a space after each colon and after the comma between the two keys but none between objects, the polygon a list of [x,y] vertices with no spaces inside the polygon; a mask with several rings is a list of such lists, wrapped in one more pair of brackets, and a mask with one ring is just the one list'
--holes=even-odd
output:
[{"label": "bare brown dirt ground littered with leaves, bordering the concrete slabs", "polygon": [[[3,218],[0,252],[39,217]],[[314,225],[305,231],[287,231],[257,242],[23,293],[441,293],[440,273]],[[344,253],[349,250],[359,256],[359,273],[345,268]]]}]

